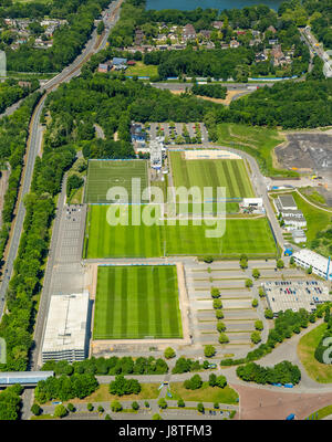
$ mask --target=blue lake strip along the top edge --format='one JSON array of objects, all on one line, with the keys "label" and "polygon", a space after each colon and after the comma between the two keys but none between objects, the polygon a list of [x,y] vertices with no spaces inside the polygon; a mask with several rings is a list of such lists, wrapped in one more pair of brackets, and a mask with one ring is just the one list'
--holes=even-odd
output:
[{"label": "blue lake strip along the top edge", "polygon": [[232,9],[252,7],[253,4],[267,4],[269,8],[277,9],[282,0],[146,0],[146,9],[180,9],[190,11],[196,8]]}]

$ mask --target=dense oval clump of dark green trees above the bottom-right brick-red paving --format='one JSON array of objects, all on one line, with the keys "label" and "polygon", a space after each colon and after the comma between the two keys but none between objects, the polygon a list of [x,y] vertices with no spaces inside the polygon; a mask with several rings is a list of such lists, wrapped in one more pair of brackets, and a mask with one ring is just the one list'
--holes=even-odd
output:
[{"label": "dense oval clump of dark green trees above the bottom-right brick-red paving", "polygon": [[301,380],[301,371],[298,366],[288,360],[277,364],[274,367],[262,367],[255,362],[249,362],[237,368],[237,375],[247,382],[256,383],[292,383],[297,385]]}]

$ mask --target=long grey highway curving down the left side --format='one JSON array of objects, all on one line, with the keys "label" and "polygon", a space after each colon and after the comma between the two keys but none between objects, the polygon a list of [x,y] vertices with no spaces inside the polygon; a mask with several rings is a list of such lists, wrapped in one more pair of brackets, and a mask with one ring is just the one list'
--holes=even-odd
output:
[{"label": "long grey highway curving down the left side", "polygon": [[[115,24],[115,22],[118,20],[120,17],[118,7],[121,6],[122,1],[123,0],[117,0],[111,3],[111,6],[106,9],[104,13],[104,22],[105,22],[104,33],[102,35],[97,35],[96,30],[94,30],[83,52],[76,57],[76,60],[70,66],[65,67],[60,74],[58,74],[55,77],[51,78],[43,85],[42,91],[44,91],[45,93],[43,97],[40,99],[39,104],[37,105],[30,122],[30,135],[27,143],[25,161],[24,161],[24,168],[21,178],[21,187],[17,203],[17,215],[12,222],[11,238],[8,245],[6,265],[3,269],[3,280],[0,286],[0,319],[4,311],[6,293],[8,290],[10,277],[12,275],[13,262],[18,253],[19,242],[23,229],[23,221],[25,215],[23,198],[29,192],[35,157],[40,150],[41,128],[39,122],[45,103],[45,98],[48,94],[54,91],[61,83],[69,82],[74,76],[80,75],[82,65],[93,54],[105,48],[110,31],[112,27]],[[17,106],[17,104],[13,106]]]}]

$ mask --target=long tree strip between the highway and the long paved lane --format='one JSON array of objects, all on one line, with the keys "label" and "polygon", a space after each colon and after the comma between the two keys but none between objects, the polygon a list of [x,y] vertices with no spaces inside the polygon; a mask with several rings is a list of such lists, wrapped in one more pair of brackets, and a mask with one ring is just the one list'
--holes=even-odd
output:
[{"label": "long tree strip between the highway and the long paved lane", "polygon": [[[34,99],[35,104],[38,95],[28,99]],[[31,108],[25,112],[30,118]],[[21,133],[27,136],[28,126]],[[24,147],[23,143],[22,151]],[[70,145],[56,149],[45,139],[43,156],[35,159],[31,191],[24,199],[23,233],[13,265],[13,276],[9,282],[7,312],[0,323],[0,336],[7,343],[7,362],[0,365],[1,371],[27,369],[38,305],[37,295],[41,291],[50,227],[54,217],[54,197],[60,191],[64,171],[73,164],[74,158],[75,150]]]}]

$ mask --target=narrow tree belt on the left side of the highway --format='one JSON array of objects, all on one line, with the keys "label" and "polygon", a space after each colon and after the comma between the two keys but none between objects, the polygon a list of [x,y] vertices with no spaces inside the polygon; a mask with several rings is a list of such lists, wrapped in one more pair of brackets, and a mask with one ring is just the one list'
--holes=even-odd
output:
[{"label": "narrow tree belt on the left side of the highway", "polygon": [[0,161],[2,167],[10,167],[8,188],[4,193],[2,207],[2,227],[0,230],[0,261],[2,260],[9,238],[13,211],[23,168],[25,144],[29,136],[31,114],[41,94],[35,92],[25,98],[21,106],[8,117],[0,119]]}]

